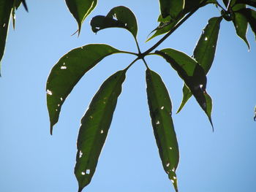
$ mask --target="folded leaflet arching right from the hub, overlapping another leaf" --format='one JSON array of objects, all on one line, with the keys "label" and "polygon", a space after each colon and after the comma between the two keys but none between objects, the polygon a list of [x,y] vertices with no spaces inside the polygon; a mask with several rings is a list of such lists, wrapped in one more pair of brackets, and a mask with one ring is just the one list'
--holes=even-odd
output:
[{"label": "folded leaflet arching right from the hub, overlapping another leaf", "polygon": [[189,90],[195,96],[200,107],[206,112],[213,127],[211,121],[211,97],[206,93],[206,74],[203,67],[197,64],[197,61],[190,58],[189,55],[178,50],[167,48],[155,53],[165,58],[173,69],[178,72],[178,75],[184,80]]}]

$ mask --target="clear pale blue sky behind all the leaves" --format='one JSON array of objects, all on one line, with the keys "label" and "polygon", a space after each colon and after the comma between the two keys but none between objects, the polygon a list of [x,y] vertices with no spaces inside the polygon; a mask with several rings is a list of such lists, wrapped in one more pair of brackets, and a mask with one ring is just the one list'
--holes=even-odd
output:
[{"label": "clear pale blue sky behind all the leaves", "polygon": [[[111,55],[91,69],[65,101],[59,123],[50,136],[45,83],[50,69],[62,55],[89,43],[105,43],[136,51],[132,35],[123,29],[99,31],[89,21],[124,5],[138,19],[138,41],[147,50],[159,37],[145,42],[157,26],[157,0],[108,0],[83,23],[80,37],[71,36],[77,24],[61,0],[27,0],[29,13],[20,7],[15,31],[10,28],[0,78],[0,191],[76,191],[73,169],[76,139],[92,96],[102,82],[134,57]],[[159,49],[172,47],[192,55],[208,19],[219,16],[213,5],[196,15],[167,39]],[[251,192],[256,185],[255,37],[249,28],[246,44],[233,23],[222,20],[214,65],[208,74],[208,93],[214,101],[214,133],[195,99],[175,115],[182,99],[183,82],[162,58],[148,56],[151,69],[162,79],[173,101],[173,120],[180,149],[178,187],[181,192]],[[108,139],[91,184],[84,191],[174,191],[162,169],[146,100],[145,66],[138,61],[127,73]]]}]

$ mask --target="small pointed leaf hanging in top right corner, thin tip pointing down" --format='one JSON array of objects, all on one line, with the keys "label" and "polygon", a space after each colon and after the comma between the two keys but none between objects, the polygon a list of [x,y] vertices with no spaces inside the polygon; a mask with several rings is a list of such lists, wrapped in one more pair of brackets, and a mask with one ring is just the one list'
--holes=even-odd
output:
[{"label": "small pointed leaf hanging in top right corner, thin tip pointing down", "polygon": [[247,32],[247,27],[248,27],[248,21],[246,20],[246,17],[244,17],[243,14],[238,12],[239,9],[244,9],[246,7],[245,4],[236,4],[233,7],[233,12],[234,12],[234,19],[233,19],[233,24],[236,28],[236,34],[238,37],[244,40],[246,45],[249,47],[249,42],[246,39],[246,32]]}]

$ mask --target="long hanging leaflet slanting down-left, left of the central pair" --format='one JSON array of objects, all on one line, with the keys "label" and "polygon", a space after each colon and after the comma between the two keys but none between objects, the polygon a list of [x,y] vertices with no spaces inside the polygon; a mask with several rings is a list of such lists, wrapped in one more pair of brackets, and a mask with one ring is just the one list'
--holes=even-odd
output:
[{"label": "long hanging leaflet slanting down-left, left of the central pair", "polygon": [[99,154],[108,135],[116,102],[121,93],[121,85],[124,82],[126,71],[124,69],[116,72],[108,80],[105,80],[81,120],[77,144],[77,162],[75,164],[75,176],[79,185],[78,192],[91,182],[94,175]]}]

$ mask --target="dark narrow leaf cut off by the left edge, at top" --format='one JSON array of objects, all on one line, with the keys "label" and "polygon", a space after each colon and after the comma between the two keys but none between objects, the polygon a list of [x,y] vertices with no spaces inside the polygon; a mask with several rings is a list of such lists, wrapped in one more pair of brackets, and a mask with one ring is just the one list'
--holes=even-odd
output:
[{"label": "dark narrow leaf cut off by the left edge, at top", "polygon": [[0,70],[1,58],[4,55],[4,47],[7,39],[7,31],[9,26],[10,15],[12,12],[13,1],[0,1]]}]

